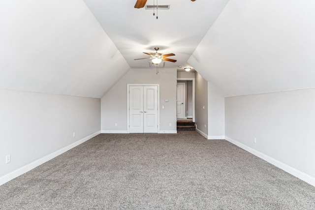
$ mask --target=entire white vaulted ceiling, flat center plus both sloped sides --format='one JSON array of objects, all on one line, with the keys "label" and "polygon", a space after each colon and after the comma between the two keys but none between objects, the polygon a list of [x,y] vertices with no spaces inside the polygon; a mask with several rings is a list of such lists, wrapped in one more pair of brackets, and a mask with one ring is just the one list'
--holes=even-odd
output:
[{"label": "entire white vaulted ceiling, flat center plus both sloped sides", "polygon": [[224,96],[315,87],[314,0],[135,1],[1,1],[0,89],[101,97],[154,47]]}]

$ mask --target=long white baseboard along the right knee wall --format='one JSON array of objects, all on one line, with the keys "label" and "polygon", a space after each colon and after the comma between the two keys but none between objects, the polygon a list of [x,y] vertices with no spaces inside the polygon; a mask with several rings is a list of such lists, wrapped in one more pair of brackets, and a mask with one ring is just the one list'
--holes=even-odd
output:
[{"label": "long white baseboard along the right knee wall", "polygon": [[295,169],[289,165],[286,165],[283,162],[280,162],[279,160],[276,160],[276,159],[274,159],[274,158],[272,158],[272,157],[270,157],[270,156],[268,156],[268,155],[266,155],[260,151],[254,150],[254,149],[252,149],[252,148],[250,148],[250,147],[248,147],[248,146],[246,146],[246,145],[244,145],[244,144],[242,144],[242,143],[240,143],[234,139],[231,139],[227,136],[225,136],[225,140],[240,147],[240,148],[242,148],[243,150],[246,150],[246,151],[252,153],[253,155],[271,163],[272,165],[284,170],[285,172],[293,175],[294,177],[297,177],[300,180],[303,180],[303,181],[315,186],[315,178],[314,177],[312,177],[308,174],[305,174],[304,172],[301,172],[301,171],[299,171],[299,170],[297,170],[297,169]]}]

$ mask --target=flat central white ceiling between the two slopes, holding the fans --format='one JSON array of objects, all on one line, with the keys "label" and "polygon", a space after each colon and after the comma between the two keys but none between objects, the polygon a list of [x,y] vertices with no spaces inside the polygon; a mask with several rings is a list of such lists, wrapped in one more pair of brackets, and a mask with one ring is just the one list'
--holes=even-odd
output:
[{"label": "flat central white ceiling between the two slopes, holding the fans", "polygon": [[[169,10],[134,8],[136,0],[84,0],[131,68],[148,68],[142,52],[174,53],[165,68],[187,67],[187,60],[220,15],[228,0],[158,0]],[[153,5],[153,0],[147,0]]]}]

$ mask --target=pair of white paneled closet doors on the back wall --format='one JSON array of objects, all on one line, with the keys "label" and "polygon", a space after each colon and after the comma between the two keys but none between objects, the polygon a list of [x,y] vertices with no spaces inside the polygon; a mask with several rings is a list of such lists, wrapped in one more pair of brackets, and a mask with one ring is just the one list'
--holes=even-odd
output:
[{"label": "pair of white paneled closet doors on the back wall", "polygon": [[129,133],[158,133],[158,86],[129,86]]}]

